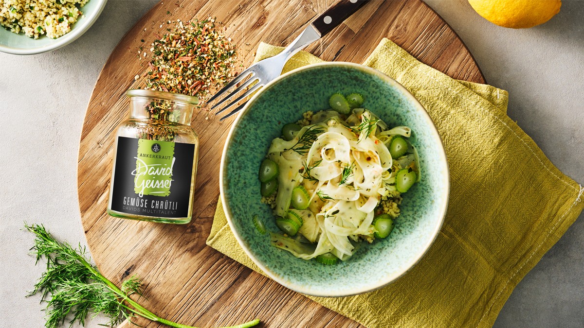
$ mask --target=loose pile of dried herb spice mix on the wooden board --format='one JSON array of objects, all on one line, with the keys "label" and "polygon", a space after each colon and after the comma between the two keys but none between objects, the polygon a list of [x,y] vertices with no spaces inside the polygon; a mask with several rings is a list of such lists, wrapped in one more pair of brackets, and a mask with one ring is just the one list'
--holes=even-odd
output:
[{"label": "loose pile of dried herb spice mix on the wooden board", "polygon": [[176,27],[166,30],[150,49],[147,89],[204,100],[210,90],[220,89],[236,75],[235,46],[230,37],[220,34],[215,19],[176,20]]}]

